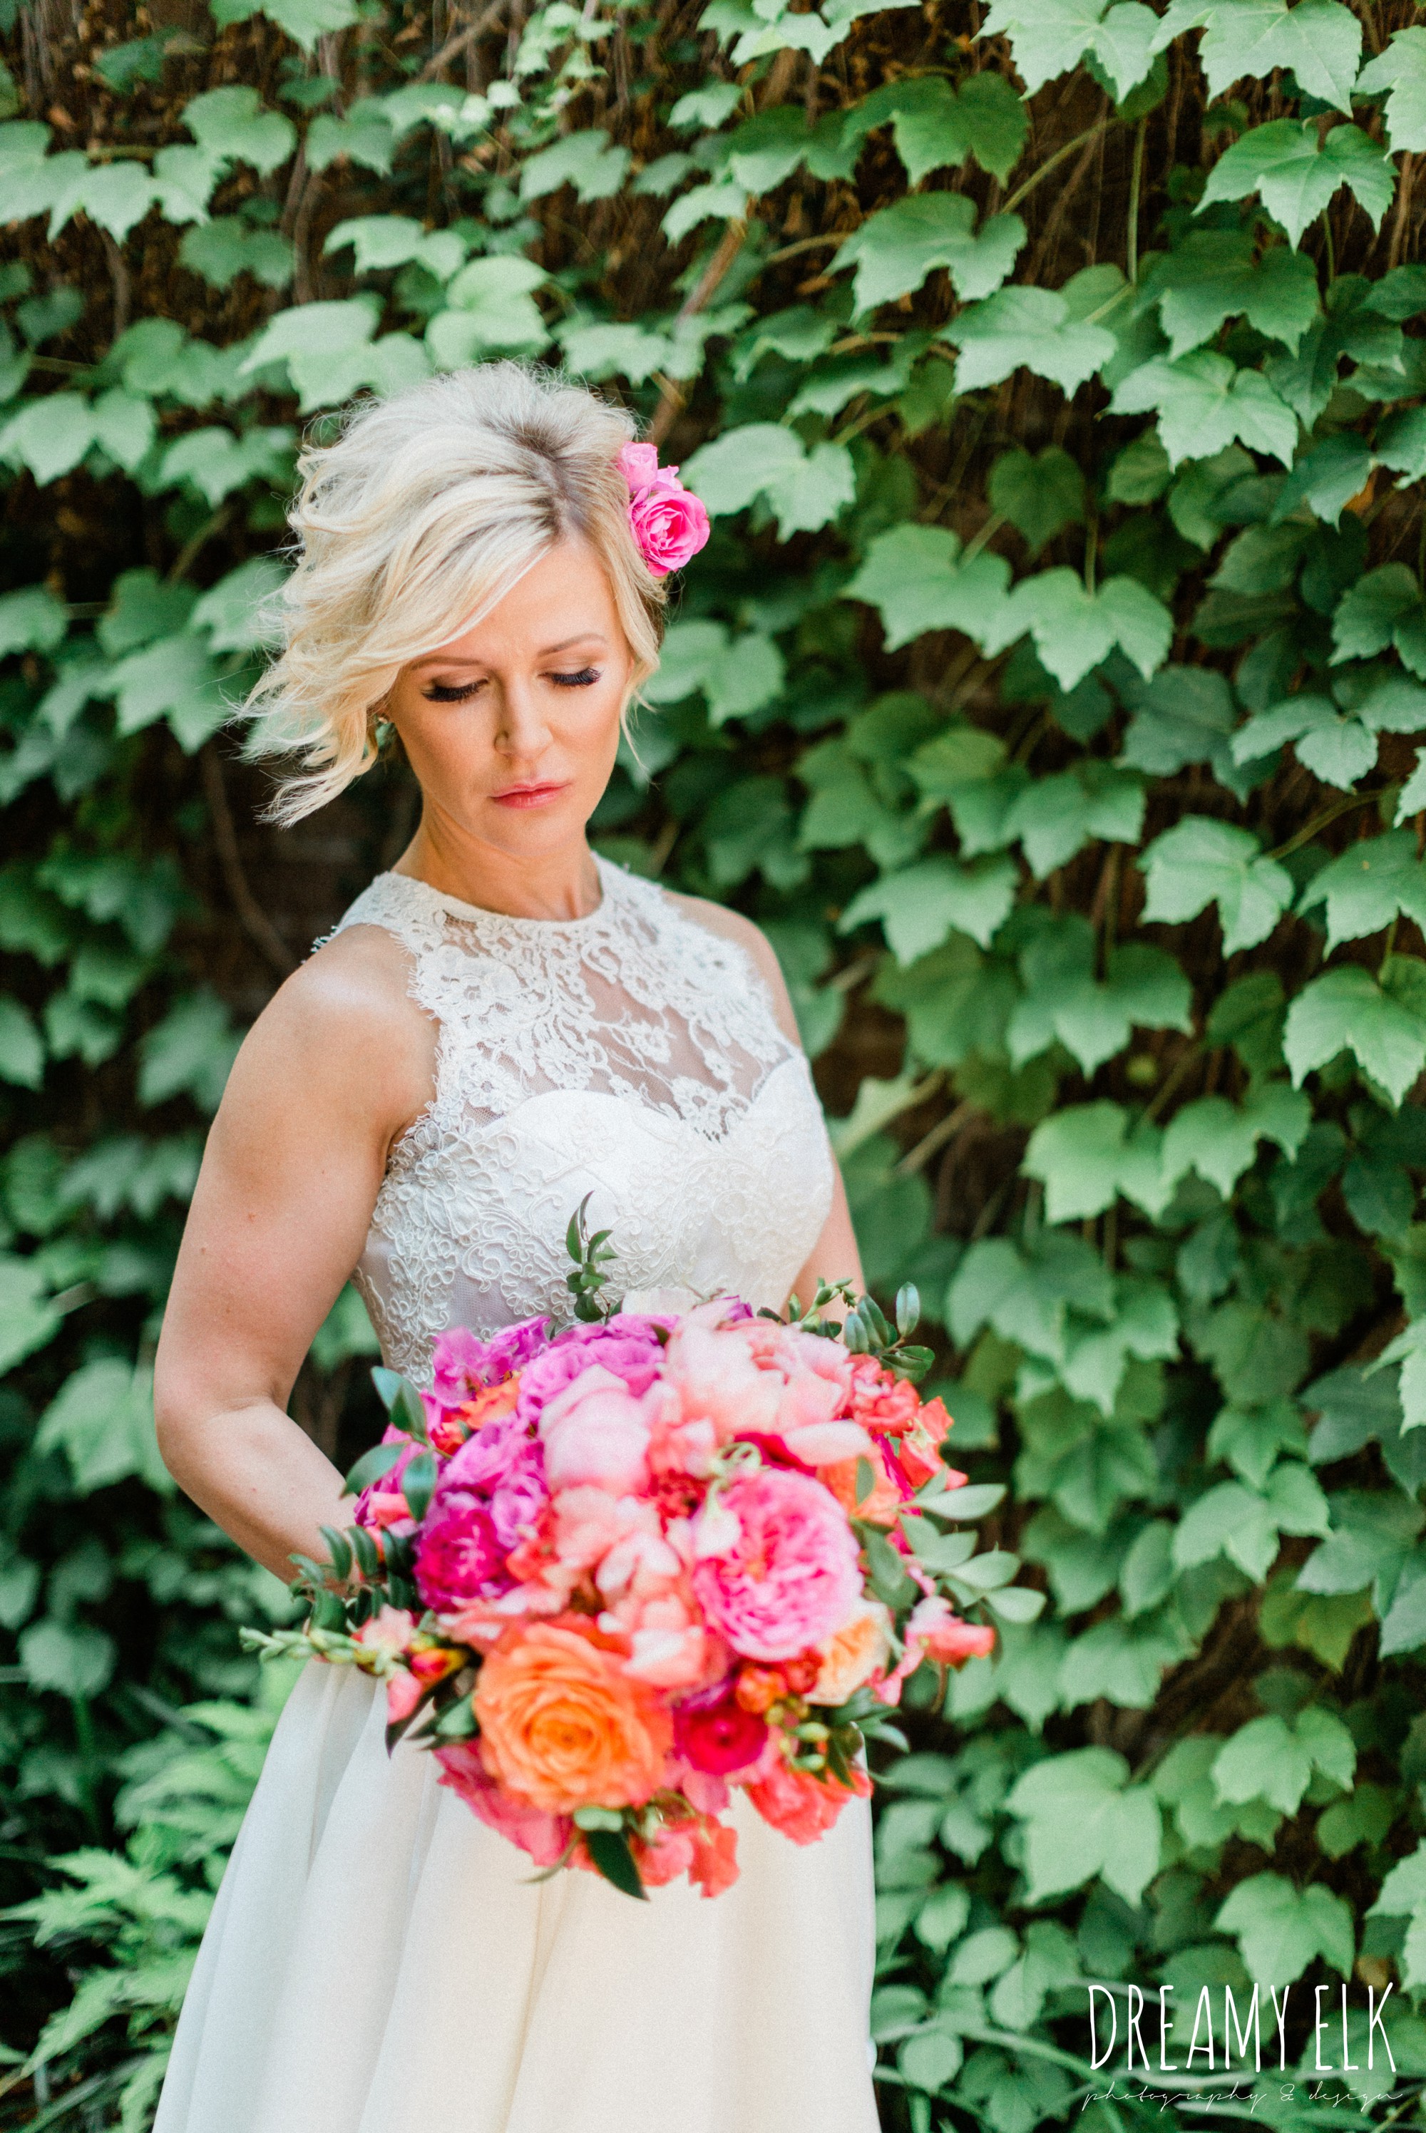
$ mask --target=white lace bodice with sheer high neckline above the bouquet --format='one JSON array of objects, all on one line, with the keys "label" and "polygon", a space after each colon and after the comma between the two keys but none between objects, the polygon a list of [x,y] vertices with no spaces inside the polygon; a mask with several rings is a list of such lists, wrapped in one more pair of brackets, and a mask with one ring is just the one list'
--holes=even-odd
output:
[{"label": "white lace bodice with sheer high neckline above the bouquet", "polygon": [[664,889],[598,868],[583,919],[378,875],[337,926],[395,934],[440,1024],[435,1092],[391,1154],[354,1273],[386,1363],[421,1384],[446,1327],[568,1312],[585,1194],[623,1290],[754,1305],[781,1305],[826,1220],[822,1111],[762,975]]}]

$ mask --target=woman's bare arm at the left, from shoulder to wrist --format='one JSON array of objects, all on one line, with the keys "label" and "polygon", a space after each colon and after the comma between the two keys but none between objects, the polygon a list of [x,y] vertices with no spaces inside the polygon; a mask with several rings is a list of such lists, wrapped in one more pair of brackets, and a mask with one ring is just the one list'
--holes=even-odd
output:
[{"label": "woman's bare arm at the left, from shoulder to wrist", "polygon": [[435,1028],[391,934],[352,928],[256,1020],[213,1120],[154,1365],[179,1487],[284,1583],[342,1525],[342,1476],[286,1414],[361,1256],[386,1154],[431,1094]]}]

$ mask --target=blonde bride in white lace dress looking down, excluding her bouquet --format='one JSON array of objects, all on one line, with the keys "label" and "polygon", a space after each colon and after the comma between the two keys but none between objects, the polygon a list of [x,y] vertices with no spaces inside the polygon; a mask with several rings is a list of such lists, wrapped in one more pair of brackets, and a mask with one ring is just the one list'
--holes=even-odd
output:
[{"label": "blonde bride in white lace dress looking down, excluding her bouquet", "polygon": [[[442,1329],[568,1305],[585,1194],[632,1290],[781,1308],[858,1273],[766,941],[585,838],[698,544],[692,499],[640,510],[651,469],[619,410],[512,363],[365,405],[303,461],[256,702],[303,755],[278,813],[342,791],[384,721],[423,815],[239,1054],[156,1376],[175,1478],[284,1581],[350,1519],[284,1408],[348,1276],[429,1382]],[[532,1881],[382,1730],[369,1677],[299,1677],[156,2133],[873,2133],[862,1800],[803,1849],[736,1794],[736,1886],[634,1905]]]}]

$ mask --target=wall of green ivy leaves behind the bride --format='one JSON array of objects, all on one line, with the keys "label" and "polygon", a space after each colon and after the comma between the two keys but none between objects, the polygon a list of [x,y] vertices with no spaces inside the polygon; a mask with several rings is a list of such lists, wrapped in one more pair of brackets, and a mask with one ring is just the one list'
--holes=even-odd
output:
[{"label": "wall of green ivy leaves behind the bride", "polygon": [[[149,1361],[241,1028],[414,821],[393,761],[256,823],[297,437],[514,352],[713,514],[598,840],[773,939],[1035,1587],[965,1589],[999,1651],[886,1773],[888,2129],[1161,2124],[1093,2101],[1089,1982],[1155,2041],[1172,1986],[1178,2067],[1208,1986],[1219,2069],[1221,1988],[1292,1988],[1217,2116],[1420,2124],[1415,11],[0,28],[0,2122],[147,2124],[282,1694]],[[331,1450],[369,1346],[348,1295],[295,1393]]]}]

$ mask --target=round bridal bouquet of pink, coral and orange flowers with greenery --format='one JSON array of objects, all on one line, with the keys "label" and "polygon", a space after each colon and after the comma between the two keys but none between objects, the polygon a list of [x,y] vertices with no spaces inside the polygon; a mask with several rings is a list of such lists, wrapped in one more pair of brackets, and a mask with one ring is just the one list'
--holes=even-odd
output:
[{"label": "round bridal bouquet of pink, coral and orange flowers with greenery", "polygon": [[[715,1896],[732,1787],[820,1839],[871,1792],[865,1741],[901,1743],[907,1674],[991,1651],[946,1593],[1016,1563],[946,1529],[1001,1491],[941,1457],[914,1290],[897,1333],[826,1286],[788,1318],[606,1310],[604,1235],[570,1224],[574,1325],[444,1333],[429,1393],[376,1372],[391,1427],[348,1476],[354,1523],[297,1557],[307,1623],[250,1642],[376,1674],[389,1747],[427,1747],[540,1869]],[[843,1325],[818,1316],[837,1297]]]}]

